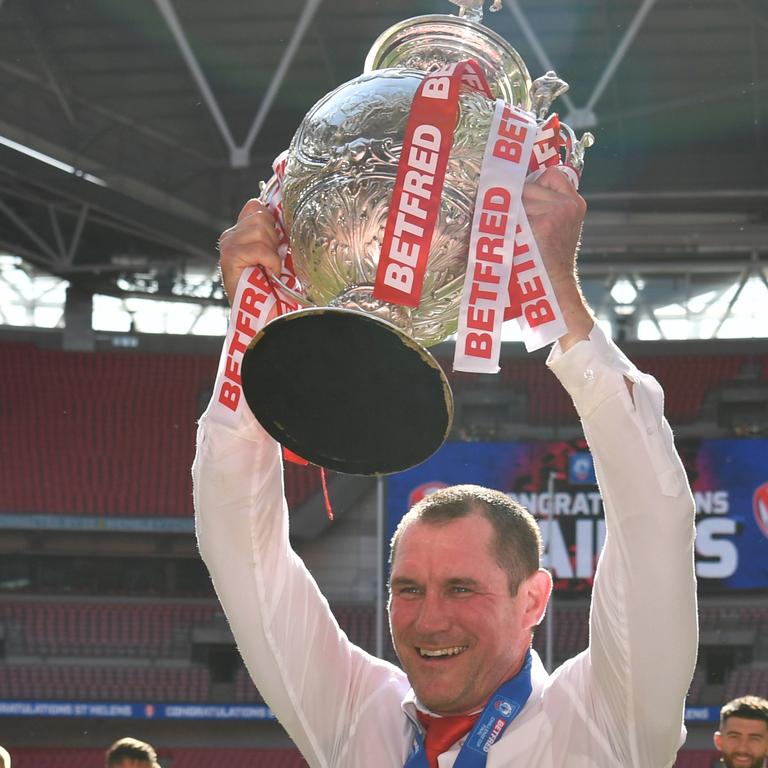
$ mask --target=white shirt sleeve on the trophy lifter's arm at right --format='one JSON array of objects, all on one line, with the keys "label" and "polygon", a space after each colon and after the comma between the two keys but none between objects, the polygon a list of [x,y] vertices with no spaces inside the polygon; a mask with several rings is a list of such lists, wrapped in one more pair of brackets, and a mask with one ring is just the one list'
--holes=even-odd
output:
[{"label": "white shirt sleeve on the trophy lifter's arm at right", "polygon": [[597,326],[565,353],[556,345],[547,364],[573,398],[605,509],[585,706],[617,764],[669,766],[684,734],[698,629],[695,507],[664,394]]}]

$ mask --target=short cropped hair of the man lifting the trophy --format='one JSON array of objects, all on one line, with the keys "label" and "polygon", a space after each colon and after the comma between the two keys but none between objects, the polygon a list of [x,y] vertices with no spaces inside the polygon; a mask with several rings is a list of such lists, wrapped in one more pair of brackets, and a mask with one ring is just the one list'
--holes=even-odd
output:
[{"label": "short cropped hair of the man lifting the trophy", "polygon": [[452,485],[430,493],[411,507],[397,526],[389,547],[389,566],[397,544],[413,523],[441,525],[479,514],[493,526],[493,556],[507,571],[510,594],[541,563],[541,532],[533,515],[501,491],[480,485]]}]

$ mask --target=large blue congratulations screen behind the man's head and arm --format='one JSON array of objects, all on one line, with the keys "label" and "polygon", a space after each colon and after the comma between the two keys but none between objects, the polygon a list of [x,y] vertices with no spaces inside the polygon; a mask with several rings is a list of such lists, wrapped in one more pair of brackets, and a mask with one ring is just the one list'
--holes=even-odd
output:
[{"label": "large blue congratulations screen behind the man's head and arm", "polygon": [[[768,440],[678,441],[677,447],[696,499],[700,591],[765,589]],[[556,589],[587,592],[605,539],[605,520],[585,456],[583,439],[446,443],[423,464],[386,478],[389,535],[410,506],[437,488],[456,483],[496,488],[539,520],[545,564]],[[557,473],[551,498],[550,472]]]}]

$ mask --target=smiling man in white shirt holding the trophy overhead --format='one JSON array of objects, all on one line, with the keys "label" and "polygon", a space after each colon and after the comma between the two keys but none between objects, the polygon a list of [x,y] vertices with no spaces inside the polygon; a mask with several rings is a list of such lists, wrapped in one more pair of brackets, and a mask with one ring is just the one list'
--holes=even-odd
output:
[{"label": "smiling man in white shirt holding the trophy overhead", "polygon": [[[535,525],[509,499],[460,486],[404,519],[389,600],[401,670],[347,640],[290,549],[280,447],[247,408],[233,422],[214,398],[201,419],[200,552],[256,685],[310,766],[665,768],[682,743],[694,505],[663,394],[581,296],[582,198],[549,169],[523,203],[568,328],[548,365],[581,415],[608,531],[589,649],[552,676],[530,650],[551,579]],[[277,271],[276,243],[268,211],[249,201],[220,241],[228,296],[245,267]]]}]

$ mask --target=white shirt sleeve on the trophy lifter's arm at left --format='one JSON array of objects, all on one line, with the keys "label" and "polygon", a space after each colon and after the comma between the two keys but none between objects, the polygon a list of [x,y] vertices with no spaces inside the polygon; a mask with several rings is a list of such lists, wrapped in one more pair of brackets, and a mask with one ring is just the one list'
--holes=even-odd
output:
[{"label": "white shirt sleeve on the trophy lifter's arm at left", "polygon": [[[311,766],[343,764],[345,735],[402,673],[349,642],[288,539],[280,446],[247,408],[201,419],[192,468],[198,545],[256,686]],[[393,692],[382,693],[382,692]]]}]

